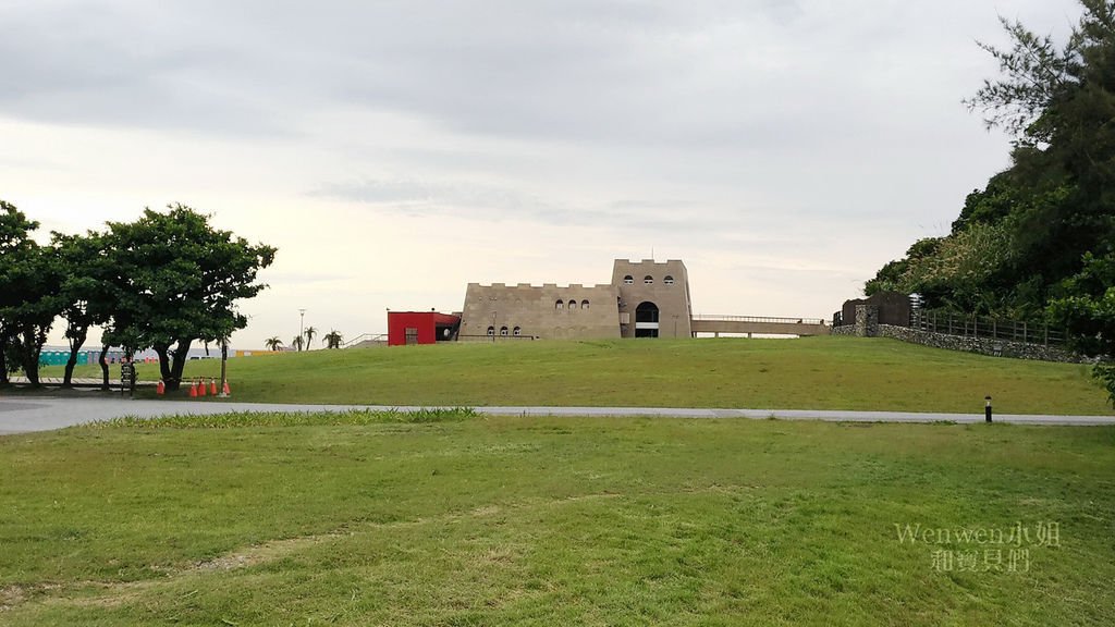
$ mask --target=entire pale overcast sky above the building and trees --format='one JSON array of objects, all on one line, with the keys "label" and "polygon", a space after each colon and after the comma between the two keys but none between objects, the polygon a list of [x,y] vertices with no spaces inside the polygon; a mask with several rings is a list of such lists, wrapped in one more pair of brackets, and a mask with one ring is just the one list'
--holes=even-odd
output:
[{"label": "entire pale overcast sky above the building and trees", "polygon": [[1000,15],[1063,38],[1079,9],[3,0],[0,199],[43,232],[182,202],[278,247],[237,348],[651,251],[696,314],[828,317],[1008,165],[961,104]]}]

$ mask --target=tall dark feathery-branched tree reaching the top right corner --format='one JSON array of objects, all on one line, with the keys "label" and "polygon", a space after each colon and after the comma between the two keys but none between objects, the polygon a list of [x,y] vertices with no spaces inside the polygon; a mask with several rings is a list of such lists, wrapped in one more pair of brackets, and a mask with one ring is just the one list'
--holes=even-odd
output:
[{"label": "tall dark feathery-branched tree reaching the top right corner", "polygon": [[[1048,298],[1115,239],[1115,2],[1080,0],[1084,15],[1058,48],[1004,20],[1010,50],[983,46],[1002,77],[968,102],[1016,136],[1007,177],[1017,278]],[[1044,302],[1041,305],[1045,305]]]}]

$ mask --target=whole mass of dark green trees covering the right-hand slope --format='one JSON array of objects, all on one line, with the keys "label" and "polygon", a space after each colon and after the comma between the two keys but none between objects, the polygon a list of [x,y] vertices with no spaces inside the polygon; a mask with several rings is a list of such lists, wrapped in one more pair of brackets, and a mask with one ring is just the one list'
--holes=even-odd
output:
[{"label": "whole mass of dark green trees covering the right-hand slope", "polygon": [[[867,281],[929,307],[1065,325],[1087,355],[1115,355],[1115,1],[1080,0],[1058,47],[1004,20],[1002,73],[967,102],[1015,136],[1011,165],[968,195],[951,232]],[[1105,375],[1106,373],[1106,375]],[[1115,377],[1101,366],[1115,401]]]}]

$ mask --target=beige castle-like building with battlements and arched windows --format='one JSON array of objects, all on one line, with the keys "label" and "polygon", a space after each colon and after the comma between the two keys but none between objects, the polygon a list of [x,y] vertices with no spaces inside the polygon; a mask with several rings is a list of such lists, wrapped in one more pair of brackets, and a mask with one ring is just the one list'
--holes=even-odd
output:
[{"label": "beige castle-like building with battlements and arched windows", "polygon": [[689,276],[679,260],[612,264],[608,284],[468,283],[462,340],[692,337]]}]

